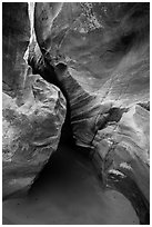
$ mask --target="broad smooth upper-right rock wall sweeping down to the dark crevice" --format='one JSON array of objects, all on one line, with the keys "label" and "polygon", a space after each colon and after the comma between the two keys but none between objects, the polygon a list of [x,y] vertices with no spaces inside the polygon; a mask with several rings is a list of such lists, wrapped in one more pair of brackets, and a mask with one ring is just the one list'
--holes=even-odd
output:
[{"label": "broad smooth upper-right rock wall sweeping down to the dark crevice", "polygon": [[[113,13],[115,7],[116,24],[111,24],[113,18],[108,14],[105,20],[104,10]],[[138,17],[133,26],[133,18],[141,9],[145,23],[140,24]],[[58,80],[70,97],[73,125],[75,116],[82,119],[79,115],[84,109],[89,117],[92,112],[95,118],[102,112],[101,103],[112,102],[112,107],[125,108],[149,100],[148,10],[149,4],[140,3],[36,4],[37,40],[47,63],[55,67]],[[83,32],[82,28],[85,29]],[[50,81],[53,80],[51,77]],[[79,130],[78,125],[73,132],[79,137],[82,128]]]}]

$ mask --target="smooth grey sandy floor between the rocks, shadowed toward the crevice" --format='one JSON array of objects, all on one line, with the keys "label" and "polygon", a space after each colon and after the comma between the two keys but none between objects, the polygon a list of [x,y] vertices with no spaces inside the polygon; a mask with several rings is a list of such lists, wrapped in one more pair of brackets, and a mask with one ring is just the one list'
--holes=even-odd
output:
[{"label": "smooth grey sandy floor between the rocks, shadowed toward the crevice", "polygon": [[135,225],[130,201],[104,191],[91,162],[60,146],[24,198],[3,203],[3,225]]}]

